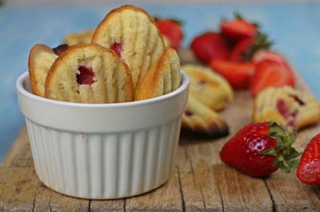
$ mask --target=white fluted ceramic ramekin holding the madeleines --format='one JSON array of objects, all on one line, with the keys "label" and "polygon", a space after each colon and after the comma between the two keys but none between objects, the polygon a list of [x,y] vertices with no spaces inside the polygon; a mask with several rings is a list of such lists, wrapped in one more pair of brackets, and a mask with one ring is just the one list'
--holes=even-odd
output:
[{"label": "white fluted ceramic ramekin holding the madeleines", "polygon": [[170,94],[130,103],[66,103],[35,96],[29,74],[16,82],[35,172],[49,188],[88,199],[151,191],[170,177],[189,78]]}]

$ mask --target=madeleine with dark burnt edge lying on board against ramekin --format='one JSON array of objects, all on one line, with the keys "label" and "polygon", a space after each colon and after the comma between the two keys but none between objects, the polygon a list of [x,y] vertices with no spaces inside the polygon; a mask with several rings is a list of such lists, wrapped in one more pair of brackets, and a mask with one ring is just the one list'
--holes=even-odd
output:
[{"label": "madeleine with dark burnt edge lying on board against ramekin", "polygon": [[186,111],[182,114],[182,128],[207,136],[225,136],[229,133],[225,121],[193,95],[189,95]]}]

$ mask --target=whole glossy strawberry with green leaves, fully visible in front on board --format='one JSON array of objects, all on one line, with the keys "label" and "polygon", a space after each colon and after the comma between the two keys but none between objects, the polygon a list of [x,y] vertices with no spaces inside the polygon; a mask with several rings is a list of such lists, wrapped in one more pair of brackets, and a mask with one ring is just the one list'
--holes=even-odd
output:
[{"label": "whole glossy strawberry with green leaves, fully visible in front on board", "polygon": [[295,134],[275,122],[250,123],[223,146],[222,161],[253,177],[264,177],[278,168],[289,173],[300,153],[291,147]]}]

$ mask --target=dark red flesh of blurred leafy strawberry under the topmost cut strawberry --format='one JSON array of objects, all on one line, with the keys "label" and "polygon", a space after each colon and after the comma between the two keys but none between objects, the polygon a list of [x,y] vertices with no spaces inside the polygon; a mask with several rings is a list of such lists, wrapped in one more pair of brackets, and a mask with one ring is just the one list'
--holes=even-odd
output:
[{"label": "dark red flesh of blurred leafy strawberry under the topmost cut strawberry", "polygon": [[232,48],[229,59],[235,62],[243,61],[244,54],[248,53],[250,46],[254,44],[255,40],[252,37],[241,39],[234,48]]}]

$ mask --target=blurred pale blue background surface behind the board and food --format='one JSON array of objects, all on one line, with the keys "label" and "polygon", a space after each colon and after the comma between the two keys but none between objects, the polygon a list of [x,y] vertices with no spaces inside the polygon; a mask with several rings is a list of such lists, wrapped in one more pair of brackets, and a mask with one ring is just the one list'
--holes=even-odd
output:
[{"label": "blurred pale blue background surface behind the board and food", "polygon": [[[196,6],[142,5],[151,15],[184,21],[184,45],[204,30],[217,30],[222,17],[234,10],[258,21],[275,41],[275,50],[289,58],[296,71],[320,98],[320,3],[251,3]],[[114,7],[113,7],[114,8]],[[0,8],[0,161],[24,125],[15,80],[27,70],[36,43],[61,44],[68,33],[95,28],[111,7]]]}]

